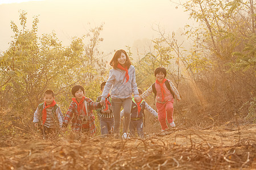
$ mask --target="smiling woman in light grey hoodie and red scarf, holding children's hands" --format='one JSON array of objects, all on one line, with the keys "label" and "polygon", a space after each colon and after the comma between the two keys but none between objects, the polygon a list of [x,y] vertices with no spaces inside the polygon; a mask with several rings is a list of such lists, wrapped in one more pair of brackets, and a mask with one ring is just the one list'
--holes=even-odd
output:
[{"label": "smiling woman in light grey hoodie and red scarf, holding children's hands", "polygon": [[101,104],[105,104],[105,99],[109,94],[110,88],[112,97],[112,110],[114,116],[114,137],[118,138],[119,126],[121,122],[120,111],[123,107],[125,117],[122,138],[129,138],[128,129],[130,124],[131,112],[131,96],[134,94],[134,100],[139,101],[139,92],[135,80],[135,67],[131,65],[131,61],[125,50],[117,50],[110,66],[113,69],[109,72],[109,78],[102,92]]}]

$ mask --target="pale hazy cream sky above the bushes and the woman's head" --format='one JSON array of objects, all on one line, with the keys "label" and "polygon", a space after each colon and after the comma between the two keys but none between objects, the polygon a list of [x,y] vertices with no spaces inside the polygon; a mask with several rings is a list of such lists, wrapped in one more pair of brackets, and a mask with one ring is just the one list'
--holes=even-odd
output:
[{"label": "pale hazy cream sky above the bushes and the woman's head", "polygon": [[[13,0],[14,2],[15,0]],[[21,1],[21,0],[20,0]],[[168,0],[42,0],[22,3],[0,0],[0,50],[9,48],[13,32],[10,22],[19,25],[19,10],[27,14],[27,27],[32,16],[39,15],[39,35],[55,31],[63,45],[72,37],[85,35],[90,28],[104,23],[100,49],[104,53],[114,49],[134,47],[145,39],[158,37],[152,26],[160,24],[166,32],[177,31],[188,24],[188,15]],[[88,24],[90,23],[90,25]],[[20,28],[20,27],[19,27]]]}]

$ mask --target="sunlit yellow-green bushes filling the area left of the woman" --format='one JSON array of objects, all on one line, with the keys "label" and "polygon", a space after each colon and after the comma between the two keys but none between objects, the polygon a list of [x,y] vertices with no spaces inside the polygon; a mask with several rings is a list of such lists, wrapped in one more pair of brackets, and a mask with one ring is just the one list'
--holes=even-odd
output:
[{"label": "sunlit yellow-green bushes filling the area left of the woman", "polygon": [[[97,48],[103,41],[100,38],[103,25],[90,29],[81,38],[74,38],[70,46],[63,46],[55,32],[38,36],[37,16],[32,29],[28,30],[26,15],[27,12],[20,11],[20,30],[11,22],[14,40],[1,56],[0,95],[5,114],[22,116],[31,122],[47,89],[55,92],[57,104],[65,112],[75,84],[84,86],[86,96],[96,99],[100,83],[106,76],[106,62],[100,59],[103,53]],[[90,88],[92,86],[96,88]]]}]

